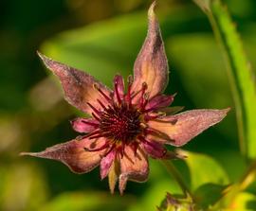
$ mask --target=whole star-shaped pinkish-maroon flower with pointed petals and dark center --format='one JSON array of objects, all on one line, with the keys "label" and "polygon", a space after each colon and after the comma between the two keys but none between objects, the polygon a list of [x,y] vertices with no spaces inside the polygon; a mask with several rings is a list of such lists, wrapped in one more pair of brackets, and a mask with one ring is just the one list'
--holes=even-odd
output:
[{"label": "whole star-shaped pinkish-maroon flower with pointed petals and dark center", "polygon": [[82,136],[23,155],[61,161],[76,173],[100,165],[101,179],[108,176],[112,193],[119,181],[122,194],[128,180],[147,180],[148,156],[180,157],[165,149],[165,145],[183,146],[226,116],[229,109],[181,114],[166,109],[174,101],[174,95],[162,94],[169,70],[154,9],[155,3],[148,11],[148,34],[135,62],[134,78],[128,77],[126,91],[119,75],[114,78],[112,91],[92,76],[38,53],[46,67],[61,80],[65,99],[91,117],[71,121],[73,129],[82,132]]}]

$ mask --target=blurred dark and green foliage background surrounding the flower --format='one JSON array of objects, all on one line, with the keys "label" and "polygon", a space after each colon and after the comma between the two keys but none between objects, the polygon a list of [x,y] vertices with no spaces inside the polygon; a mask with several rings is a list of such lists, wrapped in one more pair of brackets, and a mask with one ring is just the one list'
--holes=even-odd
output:
[{"label": "blurred dark and green foliage background surrounding the flower", "polygon": [[[225,3],[255,67],[256,2]],[[149,181],[128,183],[120,197],[110,195],[98,168],[75,175],[60,163],[18,156],[20,151],[39,151],[72,139],[78,134],[68,120],[82,115],[64,101],[36,50],[111,86],[115,73],[125,77],[132,73],[146,36],[150,4],[146,0],[0,2],[0,210],[155,210],[167,191],[181,193],[155,160],[151,160]],[[246,163],[239,152],[225,63],[209,21],[190,0],[158,0],[156,13],[171,70],[166,93],[178,94],[174,105],[186,110],[232,108],[223,122],[183,149],[214,157],[227,180],[236,182]],[[184,162],[174,164],[192,184]],[[249,192],[255,194],[253,185]]]}]

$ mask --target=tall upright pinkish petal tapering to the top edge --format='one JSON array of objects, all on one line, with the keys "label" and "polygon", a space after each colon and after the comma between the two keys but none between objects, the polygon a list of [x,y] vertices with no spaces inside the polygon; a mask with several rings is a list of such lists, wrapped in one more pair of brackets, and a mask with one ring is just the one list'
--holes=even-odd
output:
[{"label": "tall upright pinkish petal tapering to the top edge", "polygon": [[134,66],[135,81],[132,87],[132,91],[137,93],[141,84],[146,82],[150,93],[149,97],[154,97],[164,91],[169,74],[164,44],[154,9],[155,2],[148,11],[148,34],[137,55]]}]

